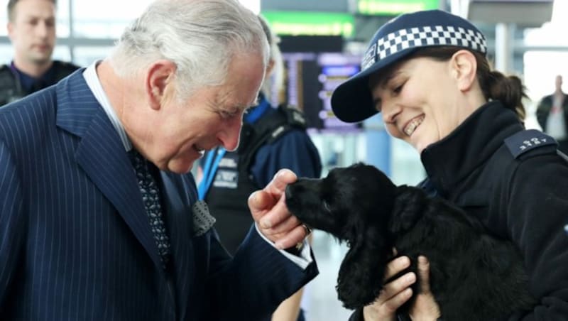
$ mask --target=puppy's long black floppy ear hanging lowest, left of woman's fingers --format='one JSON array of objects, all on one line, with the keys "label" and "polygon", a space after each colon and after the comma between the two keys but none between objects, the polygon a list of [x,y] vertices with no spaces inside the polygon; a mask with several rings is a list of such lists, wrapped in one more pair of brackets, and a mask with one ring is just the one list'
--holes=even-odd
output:
[{"label": "puppy's long black floppy ear hanging lowest, left of woman's fingers", "polygon": [[359,243],[351,244],[343,259],[337,295],[345,308],[363,308],[381,292],[386,264],[392,256],[392,244],[387,244],[383,235],[379,231],[361,231]]}]

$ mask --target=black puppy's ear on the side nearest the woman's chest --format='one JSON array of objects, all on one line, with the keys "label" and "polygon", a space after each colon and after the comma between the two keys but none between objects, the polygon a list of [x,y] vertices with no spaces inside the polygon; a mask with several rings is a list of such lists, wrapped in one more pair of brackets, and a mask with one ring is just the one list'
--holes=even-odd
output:
[{"label": "black puppy's ear on the side nearest the woman's chest", "polygon": [[388,231],[391,234],[408,231],[422,217],[426,205],[427,195],[420,188],[406,185],[397,187]]}]

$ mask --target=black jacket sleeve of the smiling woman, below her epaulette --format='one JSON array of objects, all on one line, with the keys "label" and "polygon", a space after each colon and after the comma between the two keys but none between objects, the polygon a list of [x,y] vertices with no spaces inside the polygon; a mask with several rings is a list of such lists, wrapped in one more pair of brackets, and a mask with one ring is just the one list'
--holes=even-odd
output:
[{"label": "black jacket sleeve of the smiling woman, below her epaulette", "polygon": [[529,290],[539,302],[509,320],[566,320],[568,315],[568,165],[555,154],[522,160],[500,197],[499,212],[519,246]]}]

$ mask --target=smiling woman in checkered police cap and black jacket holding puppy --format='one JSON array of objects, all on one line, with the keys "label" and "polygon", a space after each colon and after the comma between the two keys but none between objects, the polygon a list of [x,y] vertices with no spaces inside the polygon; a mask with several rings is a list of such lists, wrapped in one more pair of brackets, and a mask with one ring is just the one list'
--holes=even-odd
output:
[{"label": "smiling woman in checkered police cap and black jacket holding puppy", "polygon": [[[378,29],[361,72],[332,94],[332,108],[347,122],[380,112],[388,133],[420,153],[427,173],[421,186],[430,195],[518,246],[538,304],[502,320],[566,320],[568,163],[550,136],[525,130],[522,83],[491,70],[486,53],[484,35],[464,18],[439,10],[403,14]],[[430,293],[427,259],[417,262],[422,293],[414,293],[412,320],[444,319]],[[407,256],[394,259],[385,280],[408,266]],[[389,281],[351,320],[406,320],[396,310],[416,280],[403,273]]]}]

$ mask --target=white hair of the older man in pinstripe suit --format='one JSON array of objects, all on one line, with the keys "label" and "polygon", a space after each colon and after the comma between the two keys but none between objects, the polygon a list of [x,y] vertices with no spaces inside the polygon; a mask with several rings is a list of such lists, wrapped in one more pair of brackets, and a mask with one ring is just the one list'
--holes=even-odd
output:
[{"label": "white hair of the older man in pinstripe suit", "polygon": [[197,88],[222,85],[239,53],[268,61],[258,18],[236,0],[156,0],[127,27],[110,57],[121,77],[136,75],[159,59],[174,62],[178,99]]}]

